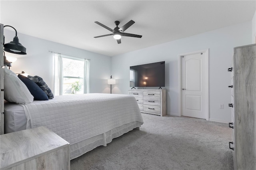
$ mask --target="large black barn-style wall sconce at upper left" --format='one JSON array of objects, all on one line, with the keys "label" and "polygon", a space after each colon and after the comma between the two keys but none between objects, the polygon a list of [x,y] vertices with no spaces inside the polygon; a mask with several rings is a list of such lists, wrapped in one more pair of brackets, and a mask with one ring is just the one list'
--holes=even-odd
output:
[{"label": "large black barn-style wall sconce at upper left", "polygon": [[[13,28],[12,26],[4,26],[4,27]],[[15,30],[15,37],[13,38],[12,42],[9,42],[6,44],[4,43],[4,51],[7,51],[9,53],[14,53],[14,54],[21,54],[21,55],[27,54],[26,48],[23,45],[21,45],[21,43],[19,42],[16,29],[15,28],[13,29]]]}]

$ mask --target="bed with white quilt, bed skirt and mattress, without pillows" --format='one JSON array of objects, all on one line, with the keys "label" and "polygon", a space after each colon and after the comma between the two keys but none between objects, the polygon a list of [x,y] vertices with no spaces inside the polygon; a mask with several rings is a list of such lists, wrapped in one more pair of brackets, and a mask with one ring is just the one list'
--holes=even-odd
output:
[{"label": "bed with white quilt, bed skirt and mattress, without pillows", "polygon": [[142,124],[136,99],[130,95],[62,95],[28,104],[4,101],[5,133],[45,126],[70,143],[70,159],[106,146]]}]

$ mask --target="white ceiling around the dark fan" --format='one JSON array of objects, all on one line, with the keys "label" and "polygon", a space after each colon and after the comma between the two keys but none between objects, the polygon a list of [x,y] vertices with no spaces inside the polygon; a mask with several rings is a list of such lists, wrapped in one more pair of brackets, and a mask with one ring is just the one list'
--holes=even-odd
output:
[{"label": "white ceiling around the dark fan", "polygon": [[[108,56],[135,51],[252,20],[255,0],[34,0],[0,1],[0,22],[18,33]],[[134,20],[125,32],[142,38],[94,38]],[[7,29],[7,28],[6,28]],[[21,42],[22,43],[22,42]]]}]

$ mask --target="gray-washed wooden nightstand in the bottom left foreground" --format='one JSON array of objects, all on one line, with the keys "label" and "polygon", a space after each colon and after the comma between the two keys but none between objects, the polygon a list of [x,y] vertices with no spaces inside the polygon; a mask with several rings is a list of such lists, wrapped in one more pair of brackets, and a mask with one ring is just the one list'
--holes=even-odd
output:
[{"label": "gray-washed wooden nightstand in the bottom left foreground", "polygon": [[70,144],[46,127],[0,136],[1,170],[69,170]]}]

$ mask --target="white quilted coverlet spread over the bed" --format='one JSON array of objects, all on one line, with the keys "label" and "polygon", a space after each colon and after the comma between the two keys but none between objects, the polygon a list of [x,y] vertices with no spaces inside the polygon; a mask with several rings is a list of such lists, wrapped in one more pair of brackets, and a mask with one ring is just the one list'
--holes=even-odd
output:
[{"label": "white quilted coverlet spread over the bed", "polygon": [[143,124],[137,102],[130,95],[63,95],[23,107],[27,128],[45,126],[70,144],[131,122]]}]

